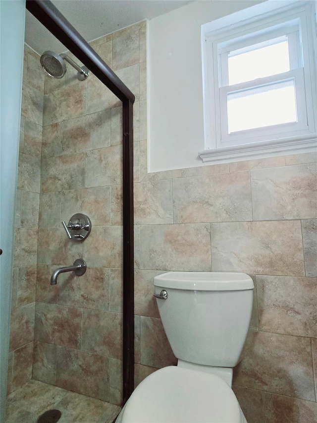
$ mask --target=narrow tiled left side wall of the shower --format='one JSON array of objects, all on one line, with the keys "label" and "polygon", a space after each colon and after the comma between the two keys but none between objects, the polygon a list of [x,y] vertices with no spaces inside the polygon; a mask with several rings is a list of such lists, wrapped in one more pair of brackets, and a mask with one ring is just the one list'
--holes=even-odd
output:
[{"label": "narrow tiled left side wall of the shower", "polygon": [[32,376],[44,74],[39,56],[24,48],[18,189],[7,391]]}]

